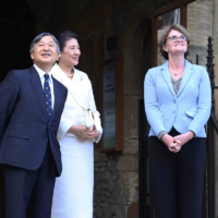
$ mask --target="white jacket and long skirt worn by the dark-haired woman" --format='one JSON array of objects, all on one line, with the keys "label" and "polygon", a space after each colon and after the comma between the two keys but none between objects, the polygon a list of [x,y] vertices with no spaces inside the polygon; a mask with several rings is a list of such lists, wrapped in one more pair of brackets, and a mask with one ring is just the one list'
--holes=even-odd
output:
[{"label": "white jacket and long skirt worn by the dark-haired woman", "polygon": [[[96,129],[102,133],[99,112],[96,110],[93,88],[88,76],[74,69],[73,80],[55,64],[52,75],[69,89],[58,131],[61,148],[62,173],[57,178],[51,218],[92,218],[94,187],[94,150],[92,141],[80,141],[68,130],[72,125],[84,125],[84,108],[95,114]],[[78,105],[80,104],[80,105]],[[96,141],[98,142],[99,138]]]}]

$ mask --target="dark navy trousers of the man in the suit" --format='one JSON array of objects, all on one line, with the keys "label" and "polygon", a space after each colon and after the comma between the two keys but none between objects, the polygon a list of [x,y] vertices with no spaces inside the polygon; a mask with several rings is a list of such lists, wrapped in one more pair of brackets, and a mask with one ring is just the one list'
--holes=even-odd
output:
[{"label": "dark navy trousers of the man in the suit", "polygon": [[56,165],[48,145],[37,170],[4,166],[5,218],[50,218]]}]

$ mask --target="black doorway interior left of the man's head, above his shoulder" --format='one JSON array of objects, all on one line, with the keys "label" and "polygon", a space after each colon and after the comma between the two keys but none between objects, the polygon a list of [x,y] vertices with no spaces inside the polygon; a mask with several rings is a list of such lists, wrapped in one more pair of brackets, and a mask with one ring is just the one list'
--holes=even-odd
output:
[{"label": "black doorway interior left of the man's head, above his shoulder", "polygon": [[24,0],[3,0],[0,3],[1,73],[0,82],[12,69],[26,69],[33,63],[29,45],[35,22]]}]

